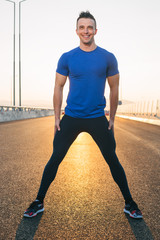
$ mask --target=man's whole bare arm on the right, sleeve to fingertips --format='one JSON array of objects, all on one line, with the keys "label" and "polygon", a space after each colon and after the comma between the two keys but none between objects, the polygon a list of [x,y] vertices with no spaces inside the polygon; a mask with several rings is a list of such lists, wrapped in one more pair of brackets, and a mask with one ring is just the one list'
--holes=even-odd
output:
[{"label": "man's whole bare arm on the right, sleeve to fingertips", "polygon": [[110,87],[110,119],[108,129],[112,128],[114,132],[114,119],[118,106],[119,74],[108,77],[108,84]]}]

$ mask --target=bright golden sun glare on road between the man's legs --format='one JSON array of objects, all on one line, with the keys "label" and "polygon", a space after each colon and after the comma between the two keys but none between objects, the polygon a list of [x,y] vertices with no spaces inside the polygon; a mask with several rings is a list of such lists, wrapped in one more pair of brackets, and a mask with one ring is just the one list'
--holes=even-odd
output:
[{"label": "bright golden sun glare on road between the man's legs", "polygon": [[82,132],[78,135],[72,146],[70,147],[65,161],[66,181],[69,181],[74,188],[83,191],[90,182],[90,173],[94,174],[95,160],[99,158],[99,150],[92,137]]}]

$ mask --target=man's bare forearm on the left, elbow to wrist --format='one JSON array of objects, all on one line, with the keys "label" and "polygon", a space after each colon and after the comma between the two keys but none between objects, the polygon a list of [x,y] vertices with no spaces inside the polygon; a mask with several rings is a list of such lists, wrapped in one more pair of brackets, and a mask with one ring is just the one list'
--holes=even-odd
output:
[{"label": "man's bare forearm on the left, elbow to wrist", "polygon": [[55,86],[53,95],[53,107],[56,120],[60,119],[62,100],[63,100],[63,87]]}]

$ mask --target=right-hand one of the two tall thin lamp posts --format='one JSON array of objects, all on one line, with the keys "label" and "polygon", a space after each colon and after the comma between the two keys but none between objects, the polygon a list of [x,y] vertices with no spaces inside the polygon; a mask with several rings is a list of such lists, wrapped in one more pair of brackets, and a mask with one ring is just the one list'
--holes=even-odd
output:
[{"label": "right-hand one of the two tall thin lamp posts", "polygon": [[21,106],[21,3],[19,2],[19,106]]}]

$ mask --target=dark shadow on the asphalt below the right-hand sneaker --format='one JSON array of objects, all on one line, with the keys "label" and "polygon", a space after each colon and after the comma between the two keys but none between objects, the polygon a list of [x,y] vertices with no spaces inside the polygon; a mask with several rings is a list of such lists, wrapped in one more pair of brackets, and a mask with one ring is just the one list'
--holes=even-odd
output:
[{"label": "dark shadow on the asphalt below the right-hand sneaker", "polygon": [[126,215],[136,240],[154,240],[152,233],[144,219],[132,219]]}]

